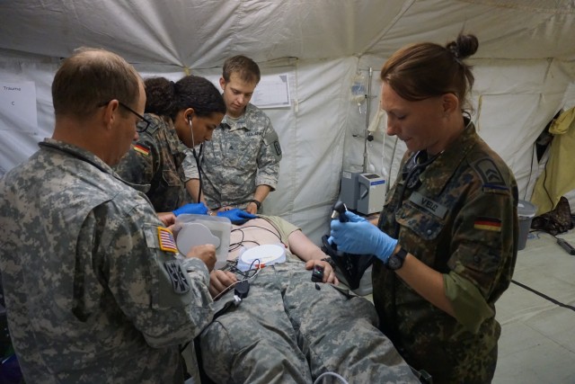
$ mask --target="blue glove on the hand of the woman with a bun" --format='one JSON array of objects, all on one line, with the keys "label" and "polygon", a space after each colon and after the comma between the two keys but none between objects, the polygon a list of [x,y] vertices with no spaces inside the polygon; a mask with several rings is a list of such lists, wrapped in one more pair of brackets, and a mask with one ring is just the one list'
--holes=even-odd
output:
[{"label": "blue glove on the hand of the woman with a bun", "polygon": [[394,253],[397,240],[387,236],[379,228],[353,212],[344,212],[349,221],[342,223],[332,220],[330,243],[338,246],[338,251],[355,255],[376,255],[386,263]]}]

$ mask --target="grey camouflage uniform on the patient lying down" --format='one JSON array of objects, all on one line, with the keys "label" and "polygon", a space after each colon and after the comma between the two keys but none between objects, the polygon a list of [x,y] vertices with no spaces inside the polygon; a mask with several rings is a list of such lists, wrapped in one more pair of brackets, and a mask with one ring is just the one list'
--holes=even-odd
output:
[{"label": "grey camouflage uniform on the patient lying down", "polygon": [[[246,226],[266,228],[261,221]],[[298,228],[279,218],[272,222],[288,244],[288,235]],[[349,383],[419,382],[377,329],[376,310],[367,299],[330,284],[316,290],[304,263],[289,253],[287,259],[264,267],[250,281],[248,296],[200,335],[202,363],[211,380],[309,384],[332,371]],[[233,295],[233,290],[226,293],[216,306],[234,302]]]}]

